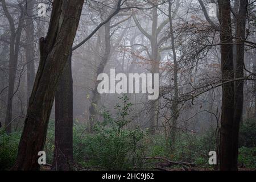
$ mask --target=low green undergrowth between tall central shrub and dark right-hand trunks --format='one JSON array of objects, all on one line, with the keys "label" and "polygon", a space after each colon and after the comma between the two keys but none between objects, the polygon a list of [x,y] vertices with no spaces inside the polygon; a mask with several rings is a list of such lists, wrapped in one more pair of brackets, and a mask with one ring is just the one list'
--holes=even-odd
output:
[{"label": "low green undergrowth between tall central shrub and dark right-hand trunks", "polygon": [[195,163],[201,167],[209,167],[209,151],[216,150],[214,130],[208,130],[204,134],[178,133],[174,151],[164,134],[155,134],[149,140],[146,144],[147,156]]}]

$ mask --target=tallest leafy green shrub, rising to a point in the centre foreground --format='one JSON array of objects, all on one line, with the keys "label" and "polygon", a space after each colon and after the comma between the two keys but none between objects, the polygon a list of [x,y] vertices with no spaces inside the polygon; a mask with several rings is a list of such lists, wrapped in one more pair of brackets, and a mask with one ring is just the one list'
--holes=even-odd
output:
[{"label": "tallest leafy green shrub, rising to a point in the centre foreground", "polygon": [[132,121],[132,109],[127,96],[121,99],[122,105],[115,107],[116,118],[105,111],[104,120],[97,123],[94,134],[80,139],[84,146],[81,153],[86,156],[90,165],[109,170],[142,167],[144,146],[141,140],[145,133],[138,128],[126,129],[127,124]]}]

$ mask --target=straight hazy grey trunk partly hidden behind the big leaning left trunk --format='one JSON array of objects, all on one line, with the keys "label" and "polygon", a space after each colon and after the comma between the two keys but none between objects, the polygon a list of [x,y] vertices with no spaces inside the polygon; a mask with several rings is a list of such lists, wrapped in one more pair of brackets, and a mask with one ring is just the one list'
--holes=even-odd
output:
[{"label": "straight hazy grey trunk partly hidden behind the big leaning left trunk", "polygon": [[27,13],[25,20],[25,46],[24,51],[26,55],[26,64],[27,64],[27,100],[30,98],[30,94],[33,89],[34,80],[35,80],[35,63],[34,63],[34,23],[32,19],[33,7],[35,1],[27,2]]}]

